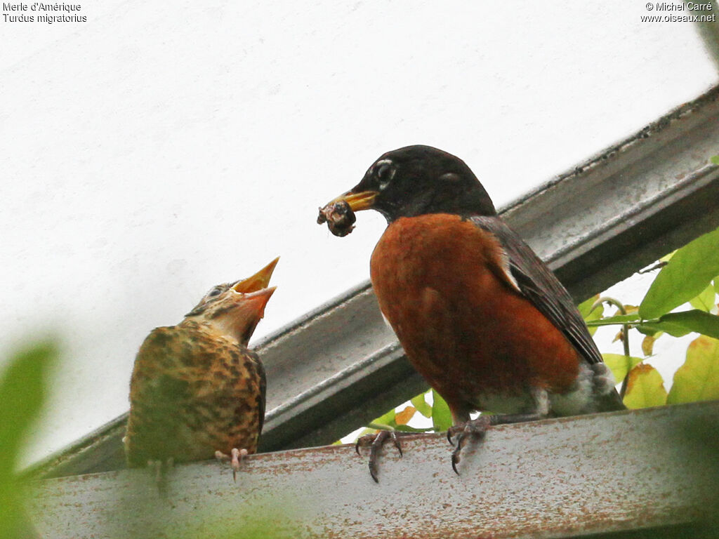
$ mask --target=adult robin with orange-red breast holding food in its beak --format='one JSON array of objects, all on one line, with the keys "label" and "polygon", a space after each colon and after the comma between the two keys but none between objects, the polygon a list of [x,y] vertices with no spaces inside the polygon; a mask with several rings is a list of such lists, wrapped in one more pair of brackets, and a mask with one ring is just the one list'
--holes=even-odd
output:
[{"label": "adult robin with orange-red breast holding food in its beak", "polygon": [[[462,160],[427,146],[387,152],[318,221],[344,236],[370,208],[388,222],[372,287],[407,359],[449,405],[454,471],[468,437],[491,425],[624,408],[569,292]],[[470,420],[475,410],[497,415]]]}]

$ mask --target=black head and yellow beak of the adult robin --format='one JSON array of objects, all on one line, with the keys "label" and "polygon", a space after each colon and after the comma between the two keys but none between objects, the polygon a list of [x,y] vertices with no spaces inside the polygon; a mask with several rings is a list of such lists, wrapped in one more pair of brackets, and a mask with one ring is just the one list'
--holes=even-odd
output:
[{"label": "black head and yellow beak of the adult robin", "polygon": [[[391,223],[426,213],[494,216],[495,207],[470,167],[430,146],[407,146],[382,155],[352,190],[325,208],[347,203],[375,209]],[[327,209],[324,213],[330,213]],[[326,215],[327,217],[327,215]]]}]

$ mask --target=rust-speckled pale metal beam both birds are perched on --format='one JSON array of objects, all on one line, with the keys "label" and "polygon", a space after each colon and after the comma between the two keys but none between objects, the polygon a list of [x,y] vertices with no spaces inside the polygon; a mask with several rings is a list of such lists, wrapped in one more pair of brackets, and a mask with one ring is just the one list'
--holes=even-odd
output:
[{"label": "rust-speckled pale metal beam both birds are perched on", "polygon": [[459,476],[446,438],[421,435],[379,484],[327,446],[250,456],[237,483],[178,466],[163,495],[143,469],[35,482],[29,514],[47,539],[679,537],[716,516],[718,433],[719,401],[544,420],[493,428]]}]

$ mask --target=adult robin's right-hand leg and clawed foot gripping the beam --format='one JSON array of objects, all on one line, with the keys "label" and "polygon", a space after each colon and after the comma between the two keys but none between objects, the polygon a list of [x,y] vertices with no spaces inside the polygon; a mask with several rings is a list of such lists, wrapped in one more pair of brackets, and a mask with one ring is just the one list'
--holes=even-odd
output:
[{"label": "adult robin's right-hand leg and clawed foot gripping the beam", "polygon": [[[459,475],[457,464],[459,464],[460,453],[462,453],[462,448],[467,445],[470,438],[484,438],[487,430],[494,425],[524,423],[546,418],[549,415],[549,395],[545,390],[534,390],[532,391],[532,397],[535,403],[535,411],[531,413],[480,415],[477,419],[464,421],[457,421],[459,414],[455,415],[453,413],[455,424],[447,430],[447,440],[454,446],[454,451],[452,451],[452,469],[454,469],[454,472]],[[457,438],[452,441],[454,436],[457,436]]]}]

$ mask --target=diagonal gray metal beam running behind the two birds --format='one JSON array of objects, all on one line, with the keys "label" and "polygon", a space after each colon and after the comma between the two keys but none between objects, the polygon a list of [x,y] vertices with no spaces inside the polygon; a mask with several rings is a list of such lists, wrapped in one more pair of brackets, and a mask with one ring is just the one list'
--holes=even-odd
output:
[{"label": "diagonal gray metal beam running behind the two birds", "polygon": [[[577,300],[719,226],[719,86],[521,198],[503,216]],[[269,380],[262,451],[331,443],[426,386],[369,283],[257,346]],[[124,417],[40,466],[42,476],[123,465]]]}]

